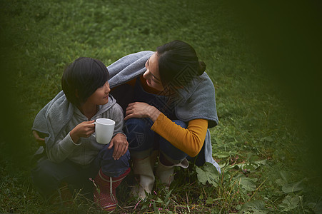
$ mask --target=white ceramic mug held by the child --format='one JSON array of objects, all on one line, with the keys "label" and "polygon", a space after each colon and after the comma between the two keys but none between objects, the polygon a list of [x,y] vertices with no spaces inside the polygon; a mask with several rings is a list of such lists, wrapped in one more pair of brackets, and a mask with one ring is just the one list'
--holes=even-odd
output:
[{"label": "white ceramic mug held by the child", "polygon": [[115,121],[108,118],[96,119],[95,123],[95,134],[97,143],[107,144],[111,141],[114,133]]}]

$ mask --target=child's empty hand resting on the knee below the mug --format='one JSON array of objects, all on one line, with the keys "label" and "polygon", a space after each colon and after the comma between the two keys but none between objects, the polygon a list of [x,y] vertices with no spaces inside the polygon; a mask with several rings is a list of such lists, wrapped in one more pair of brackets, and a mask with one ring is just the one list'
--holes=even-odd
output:
[{"label": "child's empty hand resting on the knee below the mug", "polygon": [[129,143],[126,140],[126,136],[122,133],[117,133],[114,138],[112,138],[111,143],[109,143],[108,149],[114,146],[113,158],[114,160],[119,160],[129,148]]}]

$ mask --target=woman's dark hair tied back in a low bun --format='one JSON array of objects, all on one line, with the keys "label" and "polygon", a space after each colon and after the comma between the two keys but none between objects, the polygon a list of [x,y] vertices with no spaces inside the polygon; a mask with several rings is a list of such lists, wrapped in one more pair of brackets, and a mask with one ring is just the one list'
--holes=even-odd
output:
[{"label": "woman's dark hair tied back in a low bun", "polygon": [[159,56],[159,73],[163,87],[186,86],[191,79],[206,70],[196,51],[184,41],[171,41],[156,49]]}]

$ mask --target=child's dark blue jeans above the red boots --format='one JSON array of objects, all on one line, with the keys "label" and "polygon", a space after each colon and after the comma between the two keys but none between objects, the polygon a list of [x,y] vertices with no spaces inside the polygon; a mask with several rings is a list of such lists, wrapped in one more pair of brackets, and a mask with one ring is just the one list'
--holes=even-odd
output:
[{"label": "child's dark blue jeans above the red boots", "polygon": [[66,159],[62,163],[54,163],[48,158],[41,158],[36,168],[31,170],[31,178],[36,188],[45,198],[49,197],[59,188],[62,182],[66,182],[73,189],[81,189],[86,197],[93,195],[94,185],[89,178],[95,178],[99,169],[110,177],[119,177],[129,168],[129,151],[119,160],[114,160],[112,154],[114,147],[107,149],[109,144],[99,151],[94,161],[84,167]]}]

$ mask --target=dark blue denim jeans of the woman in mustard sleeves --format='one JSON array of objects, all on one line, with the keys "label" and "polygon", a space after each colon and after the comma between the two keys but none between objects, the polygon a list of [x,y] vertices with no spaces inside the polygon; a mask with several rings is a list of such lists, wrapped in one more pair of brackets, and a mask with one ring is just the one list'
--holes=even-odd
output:
[{"label": "dark blue denim jeans of the woman in mustard sleeves", "polygon": [[[186,123],[174,120],[178,126],[186,128]],[[159,134],[151,131],[153,122],[149,118],[130,118],[125,122],[125,133],[129,142],[129,151],[133,158],[146,158],[152,150],[160,153],[171,163],[181,163],[188,155],[173,146]]]}]

